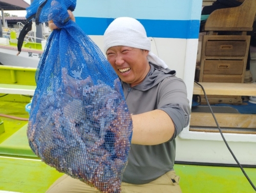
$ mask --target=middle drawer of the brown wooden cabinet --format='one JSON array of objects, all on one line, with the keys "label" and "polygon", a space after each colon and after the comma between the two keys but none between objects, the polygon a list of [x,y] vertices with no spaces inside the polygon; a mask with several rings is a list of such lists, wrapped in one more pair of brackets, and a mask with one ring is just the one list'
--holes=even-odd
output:
[{"label": "middle drawer of the brown wooden cabinet", "polygon": [[204,74],[242,74],[243,60],[205,60]]}]

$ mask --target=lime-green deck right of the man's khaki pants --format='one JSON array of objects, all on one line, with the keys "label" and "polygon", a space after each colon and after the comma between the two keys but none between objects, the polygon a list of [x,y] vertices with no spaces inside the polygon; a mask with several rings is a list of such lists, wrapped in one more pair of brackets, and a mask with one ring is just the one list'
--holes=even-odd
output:
[{"label": "lime-green deck right of the man's khaki pants", "polygon": [[[255,193],[238,167],[175,165],[183,193]],[[256,185],[256,168],[244,168]]]}]

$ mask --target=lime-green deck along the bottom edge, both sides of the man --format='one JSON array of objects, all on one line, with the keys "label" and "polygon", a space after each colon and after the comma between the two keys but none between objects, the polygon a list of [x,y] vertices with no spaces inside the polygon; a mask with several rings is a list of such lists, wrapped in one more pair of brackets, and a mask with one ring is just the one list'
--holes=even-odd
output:
[{"label": "lime-green deck along the bottom edge, both sides of the man", "polygon": [[[183,193],[255,192],[239,168],[176,164],[175,170]],[[256,168],[245,170],[255,184]],[[44,193],[61,175],[40,161],[0,157],[0,190]]]}]

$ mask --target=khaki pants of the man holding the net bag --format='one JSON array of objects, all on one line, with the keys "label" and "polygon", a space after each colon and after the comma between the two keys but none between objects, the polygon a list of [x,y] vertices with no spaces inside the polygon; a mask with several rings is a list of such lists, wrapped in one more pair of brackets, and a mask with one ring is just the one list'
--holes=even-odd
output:
[{"label": "khaki pants of the man holding the net bag", "polygon": [[[181,193],[179,176],[175,171],[168,171],[163,176],[147,184],[129,184],[122,182],[122,193]],[[80,180],[68,175],[60,177],[48,190],[47,193],[98,193],[99,191]]]}]

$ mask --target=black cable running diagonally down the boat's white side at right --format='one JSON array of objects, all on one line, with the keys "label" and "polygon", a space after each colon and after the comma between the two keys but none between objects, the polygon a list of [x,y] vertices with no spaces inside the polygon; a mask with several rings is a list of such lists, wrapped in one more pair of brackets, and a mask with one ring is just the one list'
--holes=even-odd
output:
[{"label": "black cable running diagonally down the boat's white side at right", "polygon": [[253,187],[253,189],[256,191],[256,187],[253,185],[253,183],[251,182],[250,178],[249,178],[249,177],[247,176],[247,174],[245,173],[244,168],[243,168],[242,165],[239,163],[238,159],[236,158],[236,156],[234,156],[234,154],[233,154],[231,148],[229,147],[229,145],[228,145],[228,143],[227,143],[227,141],[226,141],[226,139],[225,139],[225,137],[224,137],[224,135],[223,135],[223,133],[222,133],[222,131],[221,131],[221,128],[220,128],[220,126],[219,126],[219,123],[218,123],[218,121],[217,121],[217,119],[216,119],[216,117],[215,117],[215,115],[214,115],[214,112],[213,112],[212,109],[211,109],[210,103],[209,103],[209,101],[208,101],[208,98],[207,98],[207,96],[206,96],[206,93],[205,93],[205,90],[204,90],[203,86],[202,86],[200,83],[198,83],[197,81],[195,81],[195,83],[198,84],[198,85],[202,88],[202,90],[203,90],[203,92],[204,92],[204,97],[205,97],[205,100],[206,100],[206,102],[207,102],[207,105],[208,105],[209,108],[210,108],[210,112],[211,112],[212,116],[214,117],[214,120],[215,120],[215,122],[216,122],[216,124],[217,124],[217,126],[218,126],[219,131],[220,131],[221,137],[222,137],[223,141],[225,142],[225,144],[226,144],[226,146],[227,146],[229,152],[230,152],[231,155],[233,156],[234,160],[236,160],[237,164],[239,165],[239,167],[240,167],[241,170],[243,171],[243,174],[245,175],[245,177],[247,178],[247,180],[249,181],[249,183],[251,184],[251,186]]}]

